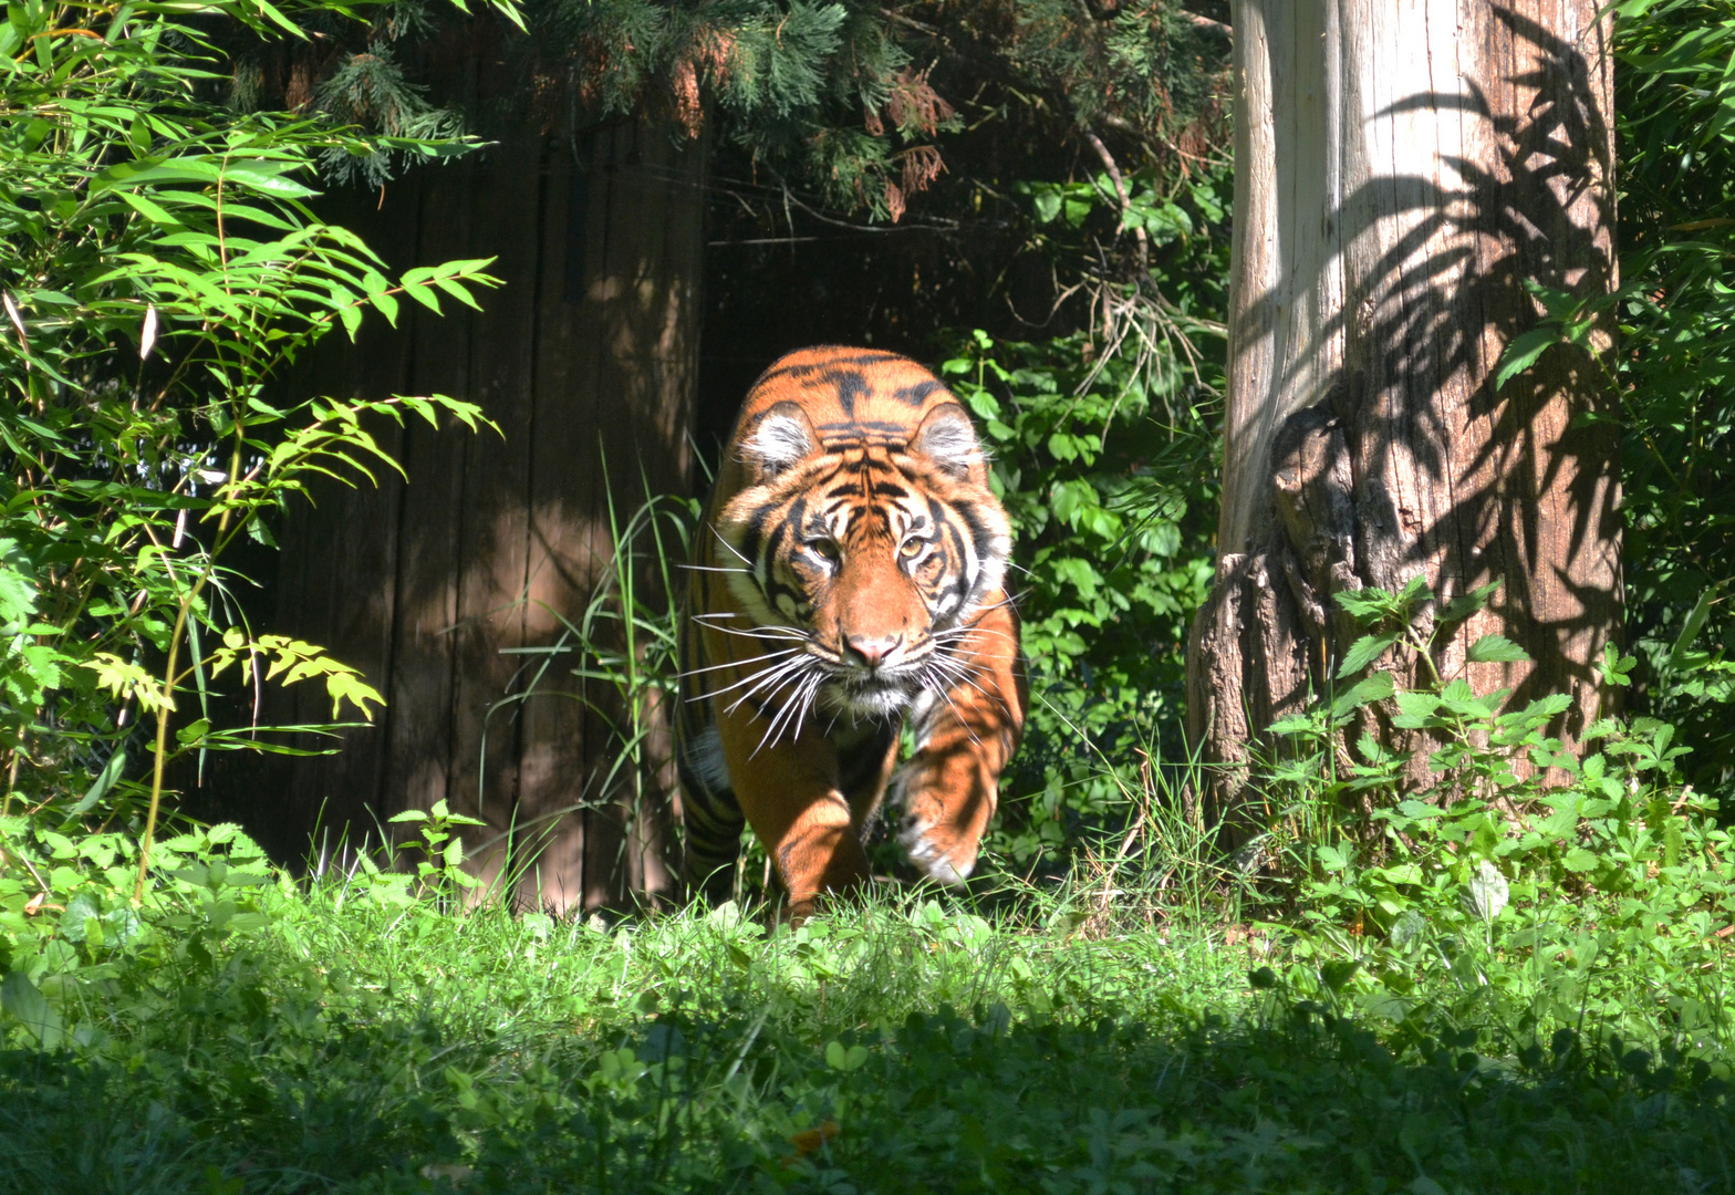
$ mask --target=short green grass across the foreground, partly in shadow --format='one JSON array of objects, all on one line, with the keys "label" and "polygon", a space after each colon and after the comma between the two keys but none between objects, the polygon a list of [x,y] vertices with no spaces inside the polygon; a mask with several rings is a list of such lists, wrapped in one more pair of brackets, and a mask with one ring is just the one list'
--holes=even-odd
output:
[{"label": "short green grass across the foreground, partly in shadow", "polygon": [[1393,1001],[1388,964],[1322,980],[1319,944],[1053,897],[767,933],[217,895],[38,978],[76,1044],[7,1022],[0,1190],[1735,1188],[1718,1034],[1640,989],[1537,1015],[1522,966],[1456,942],[1471,966]]}]

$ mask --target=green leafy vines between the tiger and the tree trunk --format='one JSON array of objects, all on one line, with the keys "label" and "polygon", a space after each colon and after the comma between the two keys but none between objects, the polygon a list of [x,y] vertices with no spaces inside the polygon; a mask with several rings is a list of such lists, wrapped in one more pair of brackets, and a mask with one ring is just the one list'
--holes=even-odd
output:
[{"label": "green leafy vines between the tiger and the tree trunk", "polygon": [[1136,225],[1164,251],[1140,283],[1098,283],[1105,326],[1039,343],[979,330],[940,366],[1017,531],[1031,711],[991,846],[1018,871],[1124,833],[1150,753],[1182,754],[1187,630],[1211,584],[1223,326],[1199,279],[1227,253],[1218,186],[1159,196],[1143,172],[1123,208],[1107,175],[1027,184],[1058,243]]}]

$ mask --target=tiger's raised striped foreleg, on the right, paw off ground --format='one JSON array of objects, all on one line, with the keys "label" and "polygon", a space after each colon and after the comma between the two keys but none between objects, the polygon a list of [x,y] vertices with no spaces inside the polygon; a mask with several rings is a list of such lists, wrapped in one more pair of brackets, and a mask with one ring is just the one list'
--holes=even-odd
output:
[{"label": "tiger's raised striped foreleg, on the right, paw off ground", "polygon": [[1005,598],[953,649],[951,683],[916,727],[916,753],[892,779],[899,843],[932,879],[956,885],[977,862],[999,803],[999,774],[1024,734],[1018,616]]}]

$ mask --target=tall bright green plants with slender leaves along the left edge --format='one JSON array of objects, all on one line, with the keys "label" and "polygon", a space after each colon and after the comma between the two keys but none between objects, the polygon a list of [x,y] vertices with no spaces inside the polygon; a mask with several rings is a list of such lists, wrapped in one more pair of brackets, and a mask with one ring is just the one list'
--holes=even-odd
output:
[{"label": "tall bright green plants with slender leaves along the left edge", "polygon": [[352,668],[246,624],[224,555],[269,546],[267,519],[316,477],[396,468],[385,421],[486,423],[442,395],[286,394],[285,369],[364,312],[396,323],[404,298],[437,312],[496,284],[488,262],[394,278],[307,206],[321,156],[467,142],[222,102],[217,31],[302,36],[312,19],[359,17],[328,0],[24,2],[0,24],[3,931],[80,876],[120,886],[123,862],[144,893],[177,756],[290,751],[283,730],[321,728],[217,727],[219,685],[314,680],[333,723],[371,715]]}]

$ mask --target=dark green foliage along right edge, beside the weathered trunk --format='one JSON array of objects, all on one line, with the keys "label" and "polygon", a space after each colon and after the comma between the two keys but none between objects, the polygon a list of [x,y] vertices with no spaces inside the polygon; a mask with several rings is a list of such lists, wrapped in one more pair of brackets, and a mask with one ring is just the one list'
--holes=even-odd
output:
[{"label": "dark green foliage along right edge, beside the weathered trunk", "polygon": [[1735,5],[1619,5],[1620,347],[1634,701],[1735,808]]}]

